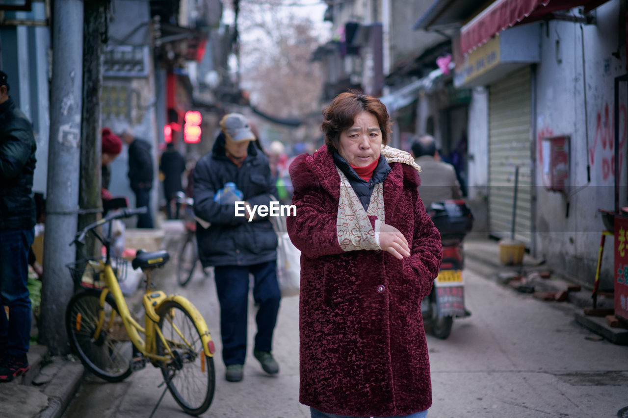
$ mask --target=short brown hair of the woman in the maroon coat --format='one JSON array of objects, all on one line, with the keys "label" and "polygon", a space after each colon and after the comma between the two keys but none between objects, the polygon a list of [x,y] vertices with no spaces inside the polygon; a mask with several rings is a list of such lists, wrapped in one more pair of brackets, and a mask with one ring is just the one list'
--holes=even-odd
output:
[{"label": "short brown hair of the woman in the maroon coat", "polygon": [[340,134],[353,126],[355,116],[360,112],[370,112],[377,118],[382,131],[382,144],[388,143],[391,121],[386,106],[376,97],[349,90],[338,94],[323,110],[323,124],[320,128],[330,151],[338,149]]}]

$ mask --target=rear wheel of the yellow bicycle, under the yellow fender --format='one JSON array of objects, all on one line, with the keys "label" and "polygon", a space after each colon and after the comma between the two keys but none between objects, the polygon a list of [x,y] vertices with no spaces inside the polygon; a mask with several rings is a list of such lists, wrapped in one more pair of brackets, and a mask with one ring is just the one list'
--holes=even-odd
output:
[{"label": "rear wheel of the yellow bicycle, under the yellow fender", "polygon": [[[192,315],[176,301],[168,301],[159,309],[158,326],[168,341],[173,355],[160,363],[161,373],[170,393],[190,415],[205,412],[214,399],[214,358],[205,355]],[[156,338],[158,355],[168,355],[161,338]]]}]

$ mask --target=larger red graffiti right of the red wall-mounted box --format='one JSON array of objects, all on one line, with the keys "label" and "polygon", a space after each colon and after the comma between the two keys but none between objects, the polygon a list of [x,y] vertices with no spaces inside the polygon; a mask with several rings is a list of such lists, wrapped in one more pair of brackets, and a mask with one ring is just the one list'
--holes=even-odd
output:
[{"label": "larger red graffiti right of the red wall-mounted box", "polygon": [[[593,167],[596,165],[602,169],[602,180],[607,181],[609,178],[615,177],[615,115],[610,115],[609,104],[605,104],[604,110],[597,112],[597,122],[595,124],[595,139],[593,146],[589,148],[590,163]],[[626,138],[628,137],[628,111],[624,104],[619,105],[619,149],[624,149]],[[602,159],[598,165],[595,161],[595,153],[597,150],[597,142],[602,145]],[[619,172],[622,171],[624,162],[624,153],[619,153]]]}]

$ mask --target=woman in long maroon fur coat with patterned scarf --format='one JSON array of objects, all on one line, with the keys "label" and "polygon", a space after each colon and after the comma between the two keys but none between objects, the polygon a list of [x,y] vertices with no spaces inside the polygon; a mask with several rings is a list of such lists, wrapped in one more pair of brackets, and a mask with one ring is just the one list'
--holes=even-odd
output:
[{"label": "woman in long maroon fur coat with patterned scarf", "polygon": [[[421,299],[442,257],[420,168],[386,146],[386,107],[343,93],[325,146],[290,166],[301,250],[300,402],[315,417],[425,417],[430,362]],[[340,414],[340,415],[335,415]]]}]

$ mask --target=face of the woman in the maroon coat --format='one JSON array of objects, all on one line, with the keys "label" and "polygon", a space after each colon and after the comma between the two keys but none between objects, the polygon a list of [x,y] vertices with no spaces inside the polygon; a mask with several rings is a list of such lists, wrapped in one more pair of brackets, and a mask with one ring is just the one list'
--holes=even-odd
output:
[{"label": "face of the woman in the maroon coat", "polygon": [[382,146],[382,131],[377,117],[363,110],[355,115],[352,127],[340,134],[338,154],[347,163],[365,167],[379,159]]}]

